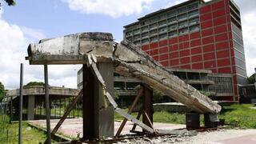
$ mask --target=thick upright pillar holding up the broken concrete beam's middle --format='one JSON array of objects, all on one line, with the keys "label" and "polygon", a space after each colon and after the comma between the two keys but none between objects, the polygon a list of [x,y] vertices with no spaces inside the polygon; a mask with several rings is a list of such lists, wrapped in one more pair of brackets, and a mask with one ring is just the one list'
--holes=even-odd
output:
[{"label": "thick upright pillar holding up the broken concrete beam's middle", "polygon": [[[100,62],[98,70],[106,84],[106,91],[114,95],[113,63]],[[90,69],[84,66],[83,81],[83,139],[114,137],[114,109],[112,106],[104,108],[102,86],[98,83]]]}]

